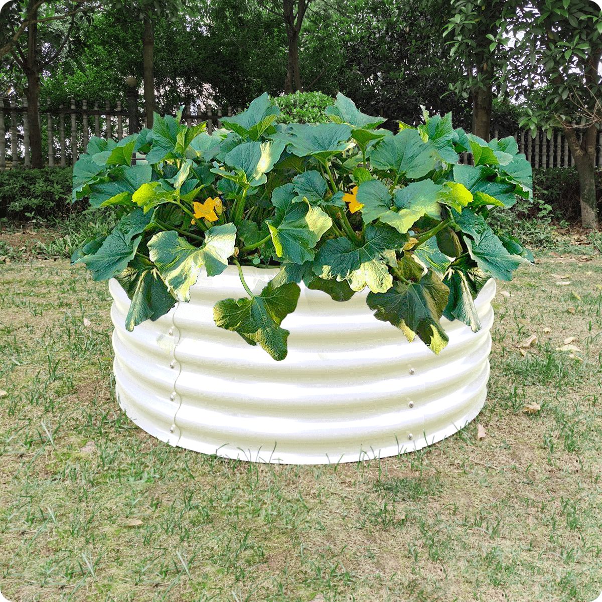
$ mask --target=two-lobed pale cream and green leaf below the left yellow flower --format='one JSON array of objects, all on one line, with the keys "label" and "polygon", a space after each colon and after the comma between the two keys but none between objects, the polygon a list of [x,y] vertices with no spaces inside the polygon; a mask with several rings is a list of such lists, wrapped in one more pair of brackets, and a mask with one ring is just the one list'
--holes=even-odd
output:
[{"label": "two-lobed pale cream and green leaf below the left yellow flower", "polygon": [[228,267],[234,253],[236,228],[228,223],[205,232],[205,243],[194,247],[177,232],[158,232],[149,240],[149,255],[168,290],[180,301],[190,300],[190,287],[204,265],[208,276],[217,276]]}]

